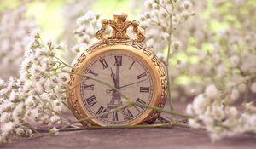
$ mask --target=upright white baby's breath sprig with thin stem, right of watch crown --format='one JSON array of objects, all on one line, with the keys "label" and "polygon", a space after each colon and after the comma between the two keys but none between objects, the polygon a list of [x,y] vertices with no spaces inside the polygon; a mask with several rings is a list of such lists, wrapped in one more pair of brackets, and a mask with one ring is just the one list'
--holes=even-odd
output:
[{"label": "upright white baby's breath sprig with thin stem, right of watch crown", "polygon": [[[194,15],[194,11],[189,0],[148,0],[145,2],[145,11],[140,16],[142,27],[147,31],[145,32],[147,46],[157,49],[158,56],[165,61],[169,87],[172,83],[169,74],[171,67],[170,58],[181,47],[180,42],[174,40],[173,33],[177,26],[188,20],[192,15]],[[166,51],[162,51],[166,48]],[[163,54],[164,52],[166,52],[166,55]],[[171,111],[174,111],[170,88],[168,88],[168,99],[170,100]]]}]

